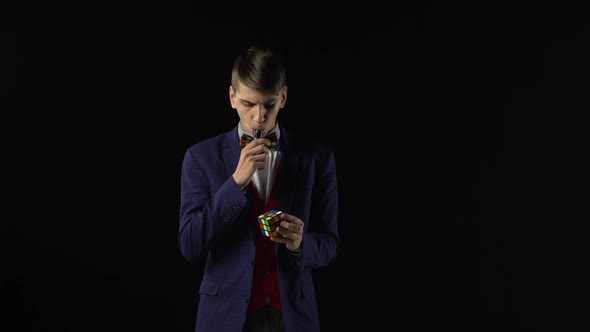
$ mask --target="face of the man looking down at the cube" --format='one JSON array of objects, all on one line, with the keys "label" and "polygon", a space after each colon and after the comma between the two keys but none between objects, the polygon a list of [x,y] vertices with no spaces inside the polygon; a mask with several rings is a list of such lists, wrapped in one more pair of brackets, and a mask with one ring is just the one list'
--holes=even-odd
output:
[{"label": "face of the man looking down at the cube", "polygon": [[279,110],[287,101],[287,87],[278,94],[261,93],[238,82],[238,88],[229,87],[231,106],[238,112],[242,127],[250,134],[255,129],[266,135],[276,124]]}]

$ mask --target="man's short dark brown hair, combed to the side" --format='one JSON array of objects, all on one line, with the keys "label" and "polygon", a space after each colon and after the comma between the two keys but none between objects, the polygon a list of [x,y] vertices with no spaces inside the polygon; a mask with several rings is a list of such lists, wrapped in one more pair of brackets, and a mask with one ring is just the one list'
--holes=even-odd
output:
[{"label": "man's short dark brown hair, combed to the side", "polygon": [[277,94],[287,85],[285,65],[270,47],[250,46],[234,60],[231,84],[235,90],[238,82],[256,91]]}]

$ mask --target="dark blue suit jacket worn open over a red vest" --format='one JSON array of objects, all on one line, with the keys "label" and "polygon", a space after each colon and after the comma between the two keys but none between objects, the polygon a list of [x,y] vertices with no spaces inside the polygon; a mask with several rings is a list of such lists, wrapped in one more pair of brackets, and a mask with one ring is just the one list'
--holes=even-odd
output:
[{"label": "dark blue suit jacket worn open over a red vest", "polygon": [[[276,244],[287,332],[319,331],[311,270],[338,252],[338,188],[333,152],[280,128],[277,210],[305,223],[302,260]],[[206,259],[195,330],[242,331],[252,285],[256,220],[232,178],[240,158],[237,126],[187,149],[182,164],[179,246],[184,258]]]}]

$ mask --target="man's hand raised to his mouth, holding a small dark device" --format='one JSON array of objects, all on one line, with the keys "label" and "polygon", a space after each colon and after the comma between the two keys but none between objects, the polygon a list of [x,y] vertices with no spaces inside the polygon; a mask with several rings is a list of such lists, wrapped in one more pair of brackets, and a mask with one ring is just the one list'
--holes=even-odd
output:
[{"label": "man's hand raised to his mouth, holding a small dark device", "polygon": [[269,142],[267,138],[255,139],[242,149],[238,167],[236,167],[232,175],[234,181],[236,181],[241,189],[244,189],[250,183],[254,172],[264,169],[266,156],[270,152],[265,145]]}]

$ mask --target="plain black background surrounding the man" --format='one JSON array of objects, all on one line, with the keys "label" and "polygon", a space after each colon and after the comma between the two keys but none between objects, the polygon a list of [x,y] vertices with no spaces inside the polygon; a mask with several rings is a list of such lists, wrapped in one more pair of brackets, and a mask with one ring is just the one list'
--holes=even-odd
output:
[{"label": "plain black background surrounding the man", "polygon": [[19,6],[2,23],[1,330],[193,330],[182,156],[237,123],[231,61],[258,42],[287,57],[282,126],[337,158],[323,330],[590,328],[580,7]]}]

